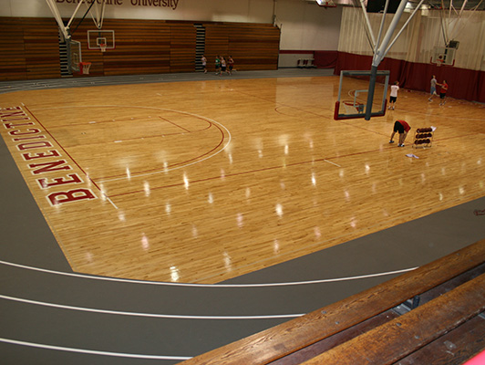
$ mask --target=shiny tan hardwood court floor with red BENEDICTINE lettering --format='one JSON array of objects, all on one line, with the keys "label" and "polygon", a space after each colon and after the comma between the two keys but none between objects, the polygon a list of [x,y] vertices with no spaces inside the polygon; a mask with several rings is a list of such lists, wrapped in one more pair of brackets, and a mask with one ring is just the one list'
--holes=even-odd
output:
[{"label": "shiny tan hardwood court floor with red BENEDICTINE lettering", "polygon": [[218,283],[485,195],[482,105],[401,89],[384,117],[333,120],[338,82],[15,91],[2,137],[73,270],[100,276]]}]

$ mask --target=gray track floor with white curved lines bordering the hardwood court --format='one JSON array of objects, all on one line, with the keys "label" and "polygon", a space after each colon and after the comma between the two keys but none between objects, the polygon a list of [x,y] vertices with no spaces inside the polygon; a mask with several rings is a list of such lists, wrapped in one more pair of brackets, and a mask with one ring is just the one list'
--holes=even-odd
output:
[{"label": "gray track floor with white curved lines bordering the hardwood court", "polygon": [[[254,71],[235,77],[326,75],[331,70]],[[0,92],[212,78],[177,74],[22,81],[0,83]],[[8,365],[174,364],[485,238],[485,216],[473,214],[485,209],[482,197],[219,285],[77,275],[4,141],[0,163],[0,354]]]}]

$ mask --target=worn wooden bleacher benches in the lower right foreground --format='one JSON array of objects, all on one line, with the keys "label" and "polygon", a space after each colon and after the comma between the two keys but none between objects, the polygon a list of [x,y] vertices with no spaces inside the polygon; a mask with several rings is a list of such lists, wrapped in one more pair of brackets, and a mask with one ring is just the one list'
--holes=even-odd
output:
[{"label": "worn wooden bleacher benches in the lower right foreground", "polygon": [[485,240],[183,365],[462,364],[485,349]]}]

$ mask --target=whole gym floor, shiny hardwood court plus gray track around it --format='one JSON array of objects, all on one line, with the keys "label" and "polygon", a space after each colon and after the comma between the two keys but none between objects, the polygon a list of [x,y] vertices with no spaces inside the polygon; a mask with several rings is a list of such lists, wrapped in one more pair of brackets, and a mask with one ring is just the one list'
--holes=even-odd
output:
[{"label": "whole gym floor, shiny hardwood court plus gray track around it", "polygon": [[334,120],[339,78],[306,71],[2,94],[5,354],[177,363],[485,236],[483,106]]}]

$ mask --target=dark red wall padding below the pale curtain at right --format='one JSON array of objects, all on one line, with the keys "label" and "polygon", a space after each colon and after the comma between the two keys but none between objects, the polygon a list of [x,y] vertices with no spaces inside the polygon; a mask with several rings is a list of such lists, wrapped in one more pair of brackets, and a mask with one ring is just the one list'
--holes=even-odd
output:
[{"label": "dark red wall padding below the pale curtain at right", "polygon": [[[338,52],[335,75],[340,71],[366,69],[372,65],[371,56]],[[485,72],[433,64],[413,63],[394,58],[384,58],[378,69],[390,71],[389,83],[399,81],[402,88],[429,91],[429,80],[436,75],[438,82],[447,80],[447,96],[455,99],[485,102]]]}]

